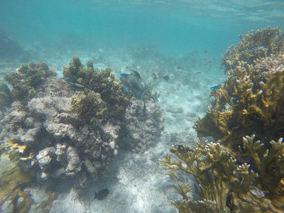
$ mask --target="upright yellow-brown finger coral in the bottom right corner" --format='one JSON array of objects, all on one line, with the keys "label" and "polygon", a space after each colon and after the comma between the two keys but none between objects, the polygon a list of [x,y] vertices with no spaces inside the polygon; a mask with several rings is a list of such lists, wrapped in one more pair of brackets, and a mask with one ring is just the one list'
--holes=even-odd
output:
[{"label": "upright yellow-brown finger coral in the bottom right corner", "polygon": [[261,141],[254,140],[255,135],[243,139],[243,146],[239,152],[243,158],[253,160],[254,170],[259,178],[256,183],[263,188],[266,197],[281,209],[284,209],[284,143],[283,138],[277,142],[271,141],[271,148],[263,154],[260,152],[264,145]]}]

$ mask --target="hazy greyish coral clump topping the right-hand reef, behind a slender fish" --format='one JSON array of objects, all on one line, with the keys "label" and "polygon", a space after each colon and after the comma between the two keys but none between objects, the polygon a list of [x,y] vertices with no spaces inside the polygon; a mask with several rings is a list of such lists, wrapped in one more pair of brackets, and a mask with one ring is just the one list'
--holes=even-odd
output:
[{"label": "hazy greyish coral clump topping the right-hand reef, behind a slender fish", "polygon": [[[280,28],[263,28],[258,31],[251,31],[245,36],[239,35],[241,42],[234,47],[231,45],[222,57],[222,65],[225,66],[225,72],[235,69],[239,61],[254,64],[254,60],[258,58],[266,58],[271,54],[278,55],[284,48],[284,34]],[[258,46],[264,46],[261,50],[251,51],[249,53],[241,53],[244,50],[251,50]]]}]

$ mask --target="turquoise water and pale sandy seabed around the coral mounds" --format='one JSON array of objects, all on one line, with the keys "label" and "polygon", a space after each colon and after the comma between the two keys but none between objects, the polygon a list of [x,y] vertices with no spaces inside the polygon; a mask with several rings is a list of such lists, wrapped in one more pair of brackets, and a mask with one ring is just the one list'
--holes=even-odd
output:
[{"label": "turquoise water and pale sandy seabed around the coral mounds", "polygon": [[[160,141],[142,153],[127,152],[127,143],[119,144],[109,171],[88,186],[84,196],[71,190],[74,180],[53,182],[58,197],[50,212],[178,212],[170,206],[171,201],[181,198],[173,190],[177,182],[165,178],[159,159],[170,153],[173,144],[192,145],[198,140],[192,129],[194,120],[202,118],[211,106],[210,87],[221,84],[225,77],[219,65],[222,54],[239,43],[238,35],[268,26],[280,26],[283,31],[284,24],[284,2],[280,0],[0,3],[0,30],[5,32],[5,39],[18,44],[14,47],[21,52],[6,57],[9,48],[0,49],[0,81],[3,75],[30,61],[47,62],[62,77],[63,65],[76,54],[84,67],[87,60],[93,60],[95,68],[111,67],[116,77],[129,73],[126,67],[137,70],[152,92],[160,94],[159,101],[151,104],[165,114]],[[159,77],[154,79],[153,75]],[[0,126],[0,133],[1,129],[4,126]],[[59,142],[54,139],[50,143],[55,146]],[[5,161],[0,159],[0,164]],[[188,176],[179,181],[195,184]],[[34,200],[44,200],[41,187],[35,183],[25,190],[31,191]],[[104,187],[110,193],[106,200],[93,200],[94,191]]]}]

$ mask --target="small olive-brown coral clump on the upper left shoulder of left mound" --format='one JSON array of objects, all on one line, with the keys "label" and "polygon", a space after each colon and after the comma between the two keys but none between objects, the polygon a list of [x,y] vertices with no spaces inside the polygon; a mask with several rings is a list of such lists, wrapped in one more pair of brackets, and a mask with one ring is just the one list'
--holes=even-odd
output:
[{"label": "small olive-brown coral clump on the upper left shoulder of left mound", "polygon": [[35,90],[42,86],[49,77],[56,75],[52,67],[48,67],[45,62],[30,62],[27,65],[21,65],[16,71],[4,76],[12,89],[11,95],[14,100],[26,104],[29,99],[35,96]]}]

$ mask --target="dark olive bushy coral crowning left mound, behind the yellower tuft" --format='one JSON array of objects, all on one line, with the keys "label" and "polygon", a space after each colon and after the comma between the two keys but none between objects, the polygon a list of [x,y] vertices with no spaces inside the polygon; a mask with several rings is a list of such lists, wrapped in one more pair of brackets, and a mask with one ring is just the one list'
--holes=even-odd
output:
[{"label": "dark olive bushy coral crowning left mound, behind the yellower tuft", "polygon": [[[74,55],[73,61],[70,62],[70,66],[64,66],[63,75],[68,78],[69,82],[73,84],[82,84],[85,87],[85,90],[89,89],[92,91],[84,92],[86,96],[88,96],[88,94],[92,96],[93,92],[100,94],[100,102],[104,105],[99,111],[96,110],[99,112],[100,116],[107,112],[108,116],[121,118],[121,116],[124,115],[126,107],[130,104],[132,94],[123,92],[123,85],[109,68],[101,70],[100,72],[95,72],[92,61],[88,61],[87,69],[84,69],[80,58],[77,55]],[[92,99],[92,97],[86,97],[86,99]],[[79,114],[84,114],[83,111],[89,110],[84,109],[87,106],[81,105],[80,107],[79,105],[75,105],[76,103],[73,102],[73,109],[77,109],[76,112],[79,112]]]}]

